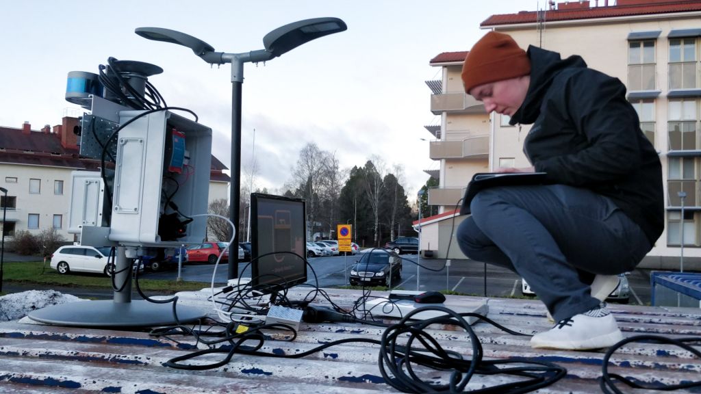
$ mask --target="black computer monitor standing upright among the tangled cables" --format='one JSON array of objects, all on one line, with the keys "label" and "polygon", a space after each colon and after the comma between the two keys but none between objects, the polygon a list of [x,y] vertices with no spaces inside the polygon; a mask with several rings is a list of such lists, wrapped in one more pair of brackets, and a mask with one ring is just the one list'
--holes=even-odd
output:
[{"label": "black computer monitor standing upright among the tangled cables", "polygon": [[[304,207],[301,198],[251,194],[251,285],[255,290],[278,292],[306,282]],[[264,255],[271,252],[275,254]]]}]

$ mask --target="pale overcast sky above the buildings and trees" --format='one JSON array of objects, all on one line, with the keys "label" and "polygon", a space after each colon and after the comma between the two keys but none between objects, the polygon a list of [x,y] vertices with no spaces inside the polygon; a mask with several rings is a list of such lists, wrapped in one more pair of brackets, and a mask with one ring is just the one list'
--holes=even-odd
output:
[{"label": "pale overcast sky above the buildings and trees", "polygon": [[[254,151],[258,186],[282,193],[308,142],[335,152],[342,168],[372,156],[404,168],[409,201],[440,124],[424,81],[440,79],[428,61],[469,50],[490,15],[536,11],[544,0],[4,1],[0,13],[0,125],[39,130],[83,110],[64,100],[67,73],[97,74],[107,57],[156,64],[149,81],[169,106],[186,107],[213,130],[212,154],[227,167],[231,144],[231,67],[210,67],[191,50],[149,41],[136,27],[165,27],[227,53],[263,48],[263,36],[290,22],[336,17],[348,30],[266,64],[245,64],[242,167]],[[255,147],[253,149],[253,130]],[[425,140],[421,140],[421,139]],[[465,179],[467,182],[468,179]]]}]

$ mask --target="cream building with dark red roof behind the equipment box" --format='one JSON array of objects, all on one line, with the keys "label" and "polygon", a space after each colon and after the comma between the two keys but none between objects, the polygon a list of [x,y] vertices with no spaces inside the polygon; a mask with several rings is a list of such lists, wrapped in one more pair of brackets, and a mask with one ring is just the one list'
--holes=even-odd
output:
[{"label": "cream building with dark red roof behind the equipment box", "polygon": [[[79,157],[77,118],[64,117],[53,128],[45,125],[32,130],[25,122],[21,128],[0,126],[0,212],[6,208],[1,227],[6,241],[16,231],[39,234],[56,229],[65,240],[76,240],[68,233],[71,173],[75,170],[99,171],[100,161]],[[212,156],[209,201],[229,196],[226,167]],[[205,212],[203,212],[205,213]],[[1,223],[1,222],[0,222]]]}]

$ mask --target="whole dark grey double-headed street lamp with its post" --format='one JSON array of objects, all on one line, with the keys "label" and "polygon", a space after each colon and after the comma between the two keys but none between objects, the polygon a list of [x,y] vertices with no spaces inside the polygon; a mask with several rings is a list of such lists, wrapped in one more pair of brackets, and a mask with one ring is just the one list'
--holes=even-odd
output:
[{"label": "whole dark grey double-headed street lamp with its post", "polygon": [[[339,18],[313,18],[292,22],[278,27],[263,37],[264,49],[242,53],[215,52],[215,48],[188,34],[160,27],[137,27],[136,34],[149,40],[177,43],[190,48],[207,63],[231,63],[231,190],[229,195],[229,219],[236,229],[238,223],[238,203],[240,201],[241,174],[241,97],[243,85],[243,64],[265,62],[287,53],[308,41],[322,36],[343,32],[348,27]],[[229,245],[229,255],[238,252],[238,231],[234,231]],[[229,279],[238,277],[236,259],[229,259]]]}]

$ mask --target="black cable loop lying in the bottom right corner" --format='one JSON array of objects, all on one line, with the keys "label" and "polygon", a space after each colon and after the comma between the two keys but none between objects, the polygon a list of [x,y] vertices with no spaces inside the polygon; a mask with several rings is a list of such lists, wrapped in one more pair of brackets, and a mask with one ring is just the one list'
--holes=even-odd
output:
[{"label": "black cable loop lying in the bottom right corner", "polygon": [[[651,344],[669,344],[669,345],[674,345],[674,346],[679,346],[680,348],[683,348],[685,351],[688,351],[689,353],[695,355],[697,358],[701,359],[701,351],[699,351],[696,348],[693,348],[692,346],[688,345],[687,343],[695,343],[695,344],[701,344],[701,337],[688,337],[688,338],[679,338],[679,339],[672,339],[672,338],[667,338],[667,337],[660,337],[658,335],[636,335],[634,337],[629,337],[626,339],[623,339],[622,341],[619,341],[617,344],[611,346],[608,348],[606,351],[606,354],[604,355],[604,360],[601,365],[601,377],[599,378],[599,387],[601,388],[601,391],[604,392],[604,394],[611,394],[611,393],[616,393],[616,394],[622,394],[623,392],[615,386],[615,382],[619,381],[621,383],[625,383],[628,387],[630,388],[642,388],[646,390],[663,390],[663,391],[671,391],[671,390],[679,390],[679,389],[686,389],[686,388],[693,388],[693,387],[701,387],[701,380],[697,381],[686,381],[685,383],[679,383],[679,384],[671,384],[671,385],[665,385],[662,383],[655,383],[653,384],[641,384],[641,383],[636,383],[636,381],[633,381],[632,379],[629,379],[625,376],[621,376],[619,374],[609,374],[608,373],[608,360],[611,358],[611,355],[615,353],[619,348],[624,346],[625,344],[629,344],[630,342],[646,342],[646,343],[651,343]],[[698,375],[696,375],[698,377]]]}]

